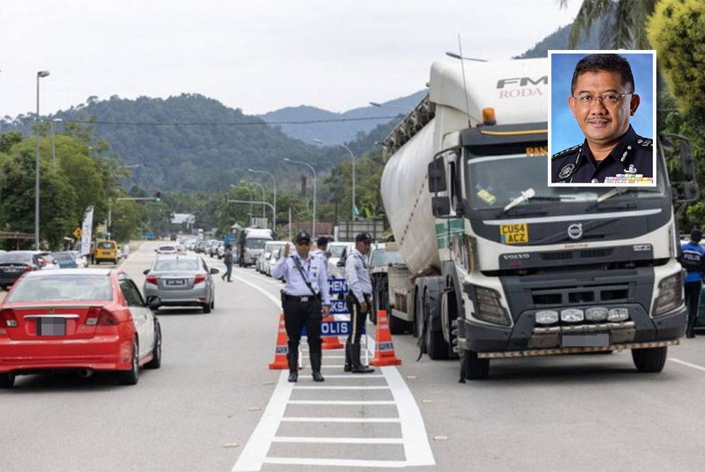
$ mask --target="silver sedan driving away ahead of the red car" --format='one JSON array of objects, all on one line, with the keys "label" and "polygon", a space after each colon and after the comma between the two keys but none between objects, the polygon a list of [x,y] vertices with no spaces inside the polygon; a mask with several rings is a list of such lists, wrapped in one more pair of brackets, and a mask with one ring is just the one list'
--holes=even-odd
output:
[{"label": "silver sedan driving away ahead of the red car", "polygon": [[145,298],[159,297],[161,306],[200,306],[204,313],[215,308],[211,275],[219,271],[200,256],[160,256],[144,273]]}]

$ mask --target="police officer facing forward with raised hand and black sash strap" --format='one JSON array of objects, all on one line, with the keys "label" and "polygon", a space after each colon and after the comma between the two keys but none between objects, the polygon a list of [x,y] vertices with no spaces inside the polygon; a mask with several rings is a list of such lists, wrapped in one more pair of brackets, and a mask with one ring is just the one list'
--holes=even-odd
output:
[{"label": "police officer facing forward with raised hand and black sash strap", "polygon": [[286,280],[281,292],[281,305],[284,310],[286,335],[289,337],[289,382],[296,382],[299,377],[299,342],[303,326],[306,326],[313,380],[323,382],[321,318],[328,316],[331,311],[326,262],[309,254],[311,236],[307,232],[300,232],[294,241],[295,254],[289,256],[289,244],[286,244],[283,257],[271,269],[272,277],[283,277]]}]

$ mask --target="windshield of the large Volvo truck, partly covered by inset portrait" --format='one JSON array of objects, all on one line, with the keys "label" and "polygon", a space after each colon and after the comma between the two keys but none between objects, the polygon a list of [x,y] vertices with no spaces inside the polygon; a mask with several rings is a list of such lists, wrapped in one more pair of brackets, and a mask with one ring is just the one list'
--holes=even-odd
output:
[{"label": "windshield of the large Volvo truck, partly covered by inset portrait", "polygon": [[[609,200],[665,197],[666,176],[661,166],[656,168],[656,187],[620,187],[620,191],[624,192],[614,194]],[[467,160],[466,175],[466,192],[470,207],[474,210],[504,209],[528,189],[533,189],[534,195],[521,201],[517,208],[547,202],[595,203],[611,190],[611,187],[548,187],[548,159],[545,154],[532,157],[526,154],[472,157]]]}]

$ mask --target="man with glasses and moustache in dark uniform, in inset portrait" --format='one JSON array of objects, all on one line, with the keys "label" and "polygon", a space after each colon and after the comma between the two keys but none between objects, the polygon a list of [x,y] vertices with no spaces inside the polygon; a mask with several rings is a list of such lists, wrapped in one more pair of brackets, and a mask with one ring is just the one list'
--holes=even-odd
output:
[{"label": "man with glasses and moustache in dark uniform, in inset portrait", "polygon": [[[654,177],[653,143],[637,135],[630,116],[639,108],[634,76],[618,54],[578,61],[568,106],[585,135],[582,144],[553,154],[551,182],[621,183]],[[560,123],[553,123],[556,130]]]}]

